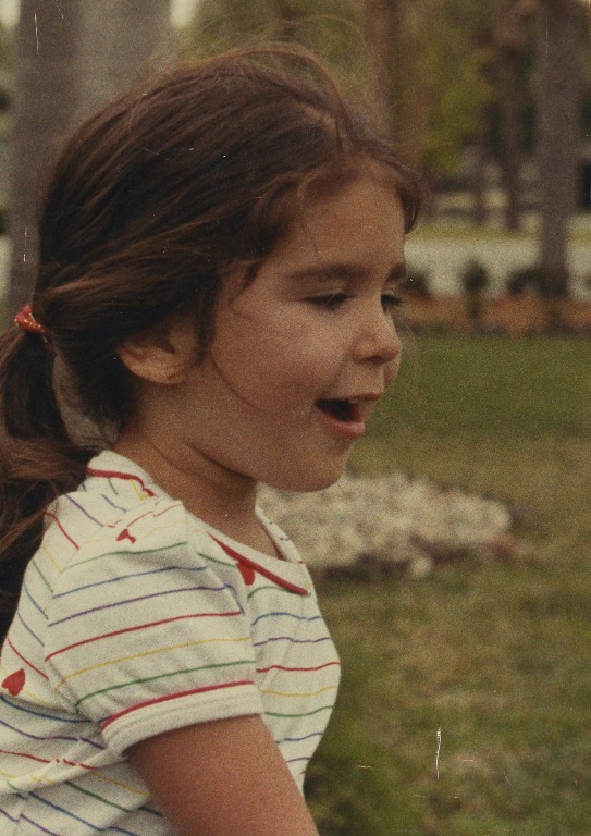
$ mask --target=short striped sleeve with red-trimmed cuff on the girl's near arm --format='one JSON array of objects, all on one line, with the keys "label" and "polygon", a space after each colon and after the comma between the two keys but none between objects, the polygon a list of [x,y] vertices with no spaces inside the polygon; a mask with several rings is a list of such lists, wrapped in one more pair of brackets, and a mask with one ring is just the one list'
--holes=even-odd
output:
[{"label": "short striped sleeve with red-trimmed cuff on the girl's near arm", "polygon": [[49,605],[59,699],[120,753],[194,723],[262,712],[241,575],[182,505],[155,502],[85,543]]}]

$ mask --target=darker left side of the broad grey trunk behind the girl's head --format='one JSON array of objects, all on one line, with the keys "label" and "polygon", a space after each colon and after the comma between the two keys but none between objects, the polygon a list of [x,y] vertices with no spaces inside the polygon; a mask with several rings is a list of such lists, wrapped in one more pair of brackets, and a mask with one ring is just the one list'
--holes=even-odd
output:
[{"label": "darker left side of the broad grey trunk behind the girl's head", "polygon": [[[48,160],[74,112],[78,2],[22,0],[16,33],[8,294],[10,318],[29,298],[37,265],[37,199]],[[10,320],[9,320],[10,321]]]}]

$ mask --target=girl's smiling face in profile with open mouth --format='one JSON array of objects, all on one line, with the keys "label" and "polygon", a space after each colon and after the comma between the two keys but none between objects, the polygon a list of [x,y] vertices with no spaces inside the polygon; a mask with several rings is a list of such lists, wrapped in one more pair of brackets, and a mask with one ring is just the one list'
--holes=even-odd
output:
[{"label": "girl's smiling face in profile with open mouth", "polygon": [[186,454],[285,490],[332,484],[398,371],[403,274],[403,211],[384,180],[310,204],[246,288],[242,274],[224,286],[209,356],[186,380]]}]

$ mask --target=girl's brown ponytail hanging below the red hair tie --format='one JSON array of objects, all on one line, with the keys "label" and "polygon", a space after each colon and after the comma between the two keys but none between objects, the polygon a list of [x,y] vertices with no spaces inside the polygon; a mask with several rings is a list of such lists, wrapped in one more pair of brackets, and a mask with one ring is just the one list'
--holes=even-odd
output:
[{"label": "girl's brown ponytail hanging below the red hair tie", "polygon": [[83,478],[91,455],[67,438],[41,339],[12,328],[0,336],[0,640],[47,506]]}]

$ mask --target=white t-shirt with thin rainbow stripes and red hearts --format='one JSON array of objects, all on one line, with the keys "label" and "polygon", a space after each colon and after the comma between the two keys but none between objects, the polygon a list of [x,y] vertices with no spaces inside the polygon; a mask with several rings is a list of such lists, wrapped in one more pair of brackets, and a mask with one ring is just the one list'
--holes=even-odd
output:
[{"label": "white t-shirt with thin rainbow stripes and red hearts", "polygon": [[112,452],[48,509],[0,657],[2,834],[170,836],[124,751],[224,717],[261,714],[301,788],[338,660],[294,545],[261,521],[283,560]]}]

